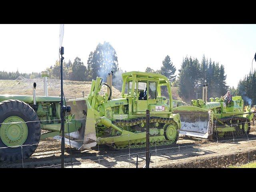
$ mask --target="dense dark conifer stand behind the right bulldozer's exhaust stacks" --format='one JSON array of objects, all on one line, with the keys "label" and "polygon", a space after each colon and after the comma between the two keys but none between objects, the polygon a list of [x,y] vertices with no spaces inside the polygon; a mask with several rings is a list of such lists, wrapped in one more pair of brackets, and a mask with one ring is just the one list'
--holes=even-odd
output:
[{"label": "dense dark conifer stand behind the right bulldozer's exhaust stacks", "polygon": [[208,99],[223,96],[228,90],[224,66],[212,62],[211,58],[208,60],[204,55],[201,62],[197,58],[186,56],[178,71],[178,94],[187,101],[202,98],[204,84],[208,85]]}]

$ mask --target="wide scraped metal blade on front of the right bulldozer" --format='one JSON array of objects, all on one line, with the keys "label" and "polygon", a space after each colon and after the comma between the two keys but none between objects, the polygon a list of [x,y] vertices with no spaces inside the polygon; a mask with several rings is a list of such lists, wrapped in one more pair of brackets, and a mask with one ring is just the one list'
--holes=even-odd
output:
[{"label": "wide scraped metal blade on front of the right bulldozer", "polygon": [[181,128],[179,134],[199,138],[210,138],[212,135],[212,118],[210,111],[180,111]]}]

